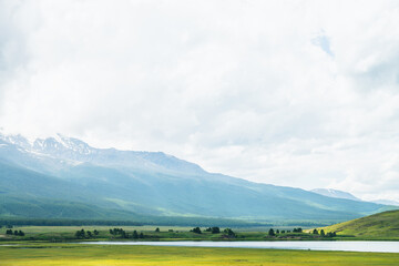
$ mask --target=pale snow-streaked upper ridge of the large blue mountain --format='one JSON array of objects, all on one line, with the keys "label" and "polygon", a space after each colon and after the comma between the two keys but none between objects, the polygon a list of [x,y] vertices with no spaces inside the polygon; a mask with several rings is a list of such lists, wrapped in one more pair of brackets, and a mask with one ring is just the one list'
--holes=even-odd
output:
[{"label": "pale snow-streaked upper ridge of the large blue mountain", "polygon": [[[33,142],[28,141],[21,135],[0,134],[0,144],[3,145],[2,151],[8,147],[17,149],[23,154],[24,160],[21,161],[21,154],[13,157],[8,154],[8,160],[18,164],[27,161],[40,160],[43,164],[51,165],[53,170],[59,171],[65,165],[93,164],[101,166],[125,166],[134,168],[152,168],[153,171],[172,171],[172,172],[190,172],[203,173],[204,171],[196,164],[176,158],[162,152],[133,152],[117,151],[115,149],[95,149],[88,143],[57,134],[53,137],[37,139]],[[8,151],[9,152],[9,151]],[[1,150],[0,150],[1,153]],[[24,165],[28,166],[28,165]],[[42,171],[34,165],[29,168]],[[52,173],[52,172],[50,172]],[[57,173],[53,173],[57,175]]]}]

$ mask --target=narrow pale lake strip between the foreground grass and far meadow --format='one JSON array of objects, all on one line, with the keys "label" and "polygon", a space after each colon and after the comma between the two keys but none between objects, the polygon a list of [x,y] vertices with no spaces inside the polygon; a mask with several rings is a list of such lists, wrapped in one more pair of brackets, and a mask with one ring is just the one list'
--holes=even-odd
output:
[{"label": "narrow pale lake strip between the foreground grass and far meadow", "polygon": [[241,247],[305,250],[399,253],[399,242],[82,242],[93,245],[145,245],[190,247]]}]

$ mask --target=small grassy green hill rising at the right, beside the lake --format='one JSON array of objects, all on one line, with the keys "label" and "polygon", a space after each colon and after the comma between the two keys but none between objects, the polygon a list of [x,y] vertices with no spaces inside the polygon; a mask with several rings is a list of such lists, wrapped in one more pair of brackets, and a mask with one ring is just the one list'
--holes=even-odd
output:
[{"label": "small grassy green hill rising at the right, beside the lake", "polygon": [[399,211],[378,213],[320,229],[336,232],[338,236],[356,236],[368,239],[399,239]]}]

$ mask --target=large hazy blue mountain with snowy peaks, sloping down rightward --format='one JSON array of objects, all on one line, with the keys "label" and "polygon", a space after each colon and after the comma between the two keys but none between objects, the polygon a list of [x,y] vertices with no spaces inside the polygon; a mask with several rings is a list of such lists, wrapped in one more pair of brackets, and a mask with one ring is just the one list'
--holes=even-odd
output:
[{"label": "large hazy blue mountain with snowy peaks, sloping down rightward", "polygon": [[0,217],[332,221],[388,209],[214,174],[162,152],[0,134]]}]

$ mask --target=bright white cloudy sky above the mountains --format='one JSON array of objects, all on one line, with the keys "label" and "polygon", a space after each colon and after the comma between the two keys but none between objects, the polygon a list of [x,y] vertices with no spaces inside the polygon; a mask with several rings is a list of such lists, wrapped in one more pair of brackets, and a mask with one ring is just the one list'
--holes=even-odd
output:
[{"label": "bright white cloudy sky above the mountains", "polygon": [[0,0],[0,126],[399,200],[399,1]]}]

